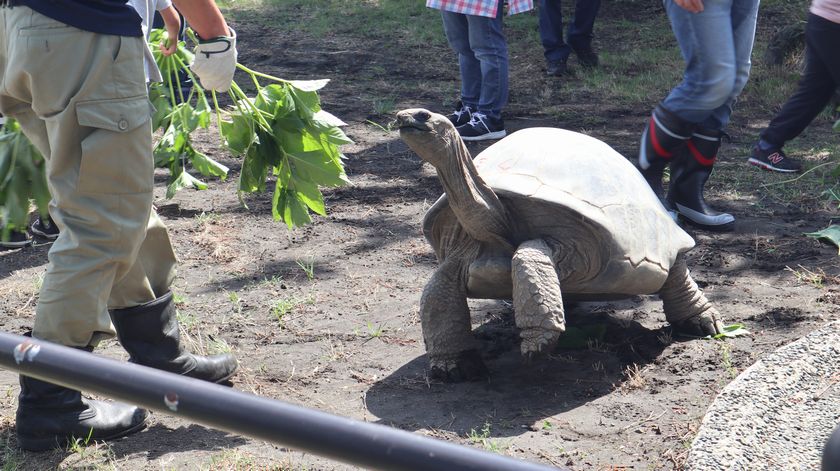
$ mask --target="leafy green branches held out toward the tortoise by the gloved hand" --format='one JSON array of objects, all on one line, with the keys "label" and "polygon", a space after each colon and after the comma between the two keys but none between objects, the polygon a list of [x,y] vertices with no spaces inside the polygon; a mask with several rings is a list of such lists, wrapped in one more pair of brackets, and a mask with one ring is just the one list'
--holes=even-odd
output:
[{"label": "leafy green branches held out toward the tortoise by the gloved hand", "polygon": [[[165,34],[154,30],[150,43],[166,40]],[[150,88],[149,97],[156,109],[154,129],[163,129],[155,147],[155,162],[171,172],[167,197],[181,188],[206,188],[188,173],[188,163],[202,176],[227,177],[227,167],[197,151],[190,141],[194,130],[209,127],[214,109],[222,142],[233,155],[244,158],[240,200],[243,192],[265,191],[270,172],[275,177],[275,219],[294,227],[311,221],[310,210],[325,214],[319,187],[347,183],[338,146],[352,143],[340,129],[344,123],[321,109],[317,91],[328,80],[283,80],[237,64],[253,83],[255,96],[249,97],[234,82],[228,92],[232,105],[223,109],[216,93],[211,92],[211,108],[205,90],[187,66],[192,53],[183,42],[170,56],[156,50],[155,59],[163,82]],[[264,85],[260,80],[270,83]],[[191,87],[185,86],[187,81]]]}]

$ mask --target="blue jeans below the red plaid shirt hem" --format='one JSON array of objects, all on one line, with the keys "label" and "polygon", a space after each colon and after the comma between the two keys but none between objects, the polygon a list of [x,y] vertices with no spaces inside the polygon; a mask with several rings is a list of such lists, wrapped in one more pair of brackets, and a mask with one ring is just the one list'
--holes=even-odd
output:
[{"label": "blue jeans below the red plaid shirt hem", "polygon": [[458,53],[461,101],[500,118],[508,100],[508,52],[502,8],[496,18],[441,11],[449,46]]}]

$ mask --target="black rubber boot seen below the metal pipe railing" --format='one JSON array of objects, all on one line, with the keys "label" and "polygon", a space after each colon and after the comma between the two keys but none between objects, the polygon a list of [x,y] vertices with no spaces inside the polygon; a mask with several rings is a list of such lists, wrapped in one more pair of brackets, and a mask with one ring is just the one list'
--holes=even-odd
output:
[{"label": "black rubber boot seen below the metal pipe railing", "polygon": [[79,391],[20,377],[15,428],[18,446],[24,450],[63,448],[77,439],[86,444],[122,437],[141,430],[147,416],[135,406],[86,399]]}]

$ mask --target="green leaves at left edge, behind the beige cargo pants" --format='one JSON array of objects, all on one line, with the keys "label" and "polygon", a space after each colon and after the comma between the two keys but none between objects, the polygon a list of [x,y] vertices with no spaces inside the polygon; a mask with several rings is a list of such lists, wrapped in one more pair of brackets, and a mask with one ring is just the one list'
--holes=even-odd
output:
[{"label": "green leaves at left edge, behind the beige cargo pants", "polygon": [[0,239],[29,223],[29,202],[46,217],[50,202],[44,157],[11,118],[0,128]]}]

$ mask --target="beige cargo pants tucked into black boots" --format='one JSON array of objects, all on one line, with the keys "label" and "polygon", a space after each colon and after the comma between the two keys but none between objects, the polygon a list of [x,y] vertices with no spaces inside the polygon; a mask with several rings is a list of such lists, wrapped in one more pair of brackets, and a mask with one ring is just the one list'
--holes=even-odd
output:
[{"label": "beige cargo pants tucked into black boots", "polygon": [[169,290],[175,255],[152,210],[154,162],[140,37],[95,34],[0,8],[0,114],[44,154],[49,252],[33,336],[95,346],[108,308]]}]

